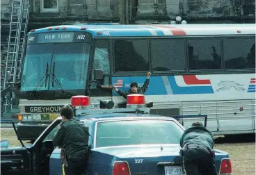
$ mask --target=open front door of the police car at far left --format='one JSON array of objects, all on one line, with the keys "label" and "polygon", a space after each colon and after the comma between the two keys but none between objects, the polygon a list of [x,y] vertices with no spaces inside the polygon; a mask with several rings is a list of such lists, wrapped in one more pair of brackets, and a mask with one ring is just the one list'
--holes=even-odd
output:
[{"label": "open front door of the police car at far left", "polygon": [[[13,125],[13,128],[3,128],[1,136],[3,136],[4,132],[12,132],[11,130],[14,130],[13,133],[15,132],[17,134],[12,120],[1,120],[1,124]],[[10,145],[8,145],[8,142],[10,141],[9,138],[13,139],[15,147],[10,147]],[[3,139],[3,137],[1,137],[1,139]],[[20,142],[19,147],[17,147],[17,144],[19,143],[17,140]],[[1,140],[1,174],[32,174],[31,153],[24,147],[24,144],[19,139],[18,135],[17,140],[15,140],[15,136],[13,135],[9,135],[6,140]]]}]

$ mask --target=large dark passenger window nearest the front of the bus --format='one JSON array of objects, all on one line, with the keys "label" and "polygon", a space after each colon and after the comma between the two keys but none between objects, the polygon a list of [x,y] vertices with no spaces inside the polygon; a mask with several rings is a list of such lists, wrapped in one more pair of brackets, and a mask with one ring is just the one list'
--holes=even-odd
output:
[{"label": "large dark passenger window nearest the front of the bus", "polygon": [[116,40],[115,72],[148,71],[147,40]]}]

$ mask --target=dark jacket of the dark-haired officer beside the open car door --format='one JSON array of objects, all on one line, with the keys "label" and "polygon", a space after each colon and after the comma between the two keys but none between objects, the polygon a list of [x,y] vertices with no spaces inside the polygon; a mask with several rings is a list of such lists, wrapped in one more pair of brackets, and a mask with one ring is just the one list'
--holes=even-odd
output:
[{"label": "dark jacket of the dark-haired officer beside the open car door", "polygon": [[80,122],[76,117],[72,117],[70,121],[61,123],[52,142],[54,147],[65,149],[67,158],[77,158],[86,156],[88,139],[88,126]]}]

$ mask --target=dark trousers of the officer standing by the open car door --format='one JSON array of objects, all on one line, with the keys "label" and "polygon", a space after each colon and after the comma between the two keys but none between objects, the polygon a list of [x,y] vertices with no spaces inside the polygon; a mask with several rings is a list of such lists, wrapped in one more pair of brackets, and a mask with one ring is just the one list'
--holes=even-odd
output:
[{"label": "dark trousers of the officer standing by the open car door", "polygon": [[86,174],[86,158],[67,159],[68,166],[63,164],[63,175],[85,175]]}]

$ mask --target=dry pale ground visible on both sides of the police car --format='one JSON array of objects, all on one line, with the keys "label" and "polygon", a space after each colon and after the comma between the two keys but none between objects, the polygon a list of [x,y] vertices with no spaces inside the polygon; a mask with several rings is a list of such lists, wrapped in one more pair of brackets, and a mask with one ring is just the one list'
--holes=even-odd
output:
[{"label": "dry pale ground visible on both sides of the police car", "polygon": [[[20,146],[15,131],[1,129],[1,140]],[[216,140],[215,149],[227,151],[232,161],[232,175],[255,174],[255,135],[234,135]]]}]

